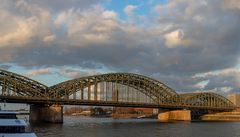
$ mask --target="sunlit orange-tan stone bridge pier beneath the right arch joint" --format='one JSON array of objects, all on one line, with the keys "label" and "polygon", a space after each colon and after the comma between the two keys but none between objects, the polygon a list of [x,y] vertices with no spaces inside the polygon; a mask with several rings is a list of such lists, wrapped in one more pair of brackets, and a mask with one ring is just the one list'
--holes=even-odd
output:
[{"label": "sunlit orange-tan stone bridge pier beneath the right arch joint", "polygon": [[160,110],[159,121],[191,121],[191,110]]}]

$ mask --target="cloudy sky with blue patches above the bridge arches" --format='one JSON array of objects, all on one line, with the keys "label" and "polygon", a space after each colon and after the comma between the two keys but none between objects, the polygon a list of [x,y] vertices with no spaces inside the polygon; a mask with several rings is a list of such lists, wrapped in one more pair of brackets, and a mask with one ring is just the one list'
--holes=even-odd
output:
[{"label": "cloudy sky with blue patches above the bridge arches", "polygon": [[111,72],[240,92],[239,0],[1,0],[0,68],[45,85]]}]

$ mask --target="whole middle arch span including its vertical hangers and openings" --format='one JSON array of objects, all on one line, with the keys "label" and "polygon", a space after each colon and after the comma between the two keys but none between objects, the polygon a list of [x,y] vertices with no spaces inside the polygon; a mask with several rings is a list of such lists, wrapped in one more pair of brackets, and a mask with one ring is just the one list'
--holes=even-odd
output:
[{"label": "whole middle arch span including its vertical hangers and openings", "polygon": [[[120,101],[120,94],[123,92],[128,96],[125,97],[125,99],[127,98],[126,101],[133,100],[132,94],[136,94],[135,98],[139,98],[139,100],[141,100],[141,95],[145,95],[148,97],[148,100],[151,100],[150,102],[156,104],[174,104],[177,102],[176,99],[179,98],[179,95],[165,84],[152,78],[132,73],[109,73],[77,78],[50,87],[49,93],[51,98],[68,98],[71,95],[75,97],[75,93],[79,91],[81,92],[81,99],[84,99],[83,93],[85,93],[88,94],[87,99],[91,100],[90,92],[94,90],[95,98],[92,98],[92,100],[98,100],[97,96],[101,94],[101,90],[105,92],[102,93],[105,95],[109,88],[111,88],[110,92],[112,92],[112,95],[110,95],[113,97],[112,101]],[[132,91],[136,91],[136,93]],[[105,98],[106,100],[107,98]]]}]

